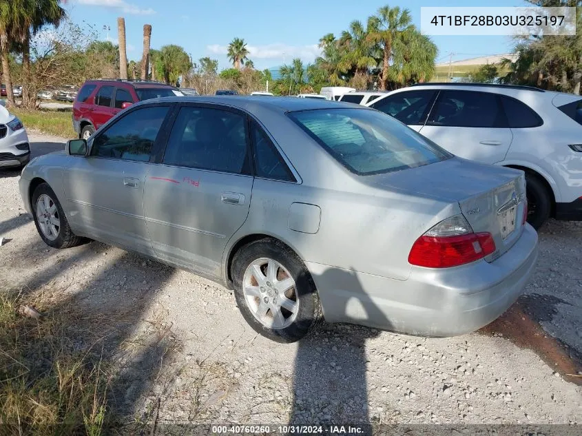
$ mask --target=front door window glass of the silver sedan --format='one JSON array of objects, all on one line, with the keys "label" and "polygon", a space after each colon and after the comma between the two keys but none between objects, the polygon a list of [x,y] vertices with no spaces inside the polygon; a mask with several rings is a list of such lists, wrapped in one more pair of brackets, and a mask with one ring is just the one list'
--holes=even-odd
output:
[{"label": "front door window glass of the silver sedan", "polygon": [[168,110],[168,106],[143,107],[123,116],[95,138],[91,155],[149,161]]}]

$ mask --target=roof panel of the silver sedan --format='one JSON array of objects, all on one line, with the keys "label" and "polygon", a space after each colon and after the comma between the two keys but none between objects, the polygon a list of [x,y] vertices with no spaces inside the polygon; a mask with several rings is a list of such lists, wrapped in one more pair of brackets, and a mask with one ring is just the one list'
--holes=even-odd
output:
[{"label": "roof panel of the silver sedan", "polygon": [[192,103],[215,103],[220,105],[228,105],[231,107],[236,107],[241,110],[247,110],[249,112],[255,112],[255,110],[266,109],[274,112],[280,112],[284,114],[285,112],[298,112],[302,110],[317,110],[317,109],[329,109],[330,107],[335,108],[357,108],[357,109],[368,109],[362,105],[356,105],[354,103],[342,103],[338,101],[323,100],[322,98],[297,98],[295,96],[289,97],[278,97],[273,96],[271,98],[256,98],[253,96],[171,96],[163,98],[155,98],[152,100],[146,100],[143,103],[137,104],[147,104],[156,103],[163,101],[173,101],[176,103],[192,102]]}]

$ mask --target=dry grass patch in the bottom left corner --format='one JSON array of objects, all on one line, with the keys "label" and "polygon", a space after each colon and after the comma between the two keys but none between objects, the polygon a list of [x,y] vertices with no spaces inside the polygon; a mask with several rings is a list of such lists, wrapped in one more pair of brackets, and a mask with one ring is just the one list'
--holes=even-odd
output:
[{"label": "dry grass patch in the bottom left corner", "polygon": [[22,304],[0,293],[0,433],[102,435],[110,422],[106,365],[67,337],[70,311],[27,318]]}]

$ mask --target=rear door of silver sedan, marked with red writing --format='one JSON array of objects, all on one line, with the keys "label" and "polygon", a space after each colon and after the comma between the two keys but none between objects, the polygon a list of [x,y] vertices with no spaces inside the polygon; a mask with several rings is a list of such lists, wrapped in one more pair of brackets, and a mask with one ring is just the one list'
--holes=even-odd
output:
[{"label": "rear door of silver sedan, marked with red writing", "polygon": [[147,229],[158,258],[220,277],[222,252],[249,213],[247,116],[180,106],[160,165],[145,180]]}]

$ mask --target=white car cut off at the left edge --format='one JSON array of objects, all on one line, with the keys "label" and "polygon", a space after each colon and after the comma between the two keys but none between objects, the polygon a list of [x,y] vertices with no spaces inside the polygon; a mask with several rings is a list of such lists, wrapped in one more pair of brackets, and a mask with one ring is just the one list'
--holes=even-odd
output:
[{"label": "white car cut off at the left edge", "polygon": [[0,105],[0,167],[23,167],[29,161],[26,129],[17,116]]}]

